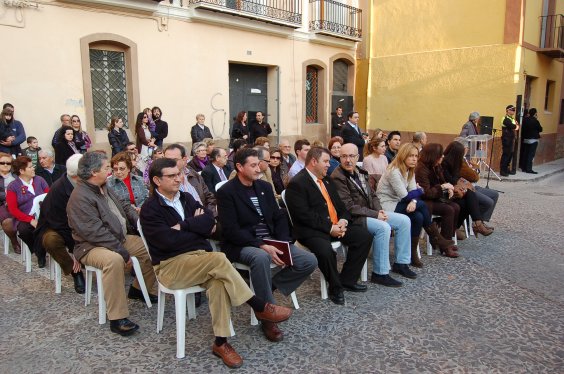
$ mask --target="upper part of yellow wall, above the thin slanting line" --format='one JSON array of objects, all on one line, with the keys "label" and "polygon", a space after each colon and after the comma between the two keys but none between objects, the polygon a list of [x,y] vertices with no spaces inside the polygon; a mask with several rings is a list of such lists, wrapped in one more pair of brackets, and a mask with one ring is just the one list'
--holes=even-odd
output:
[{"label": "upper part of yellow wall, above the thin slanting line", "polygon": [[504,0],[373,0],[372,57],[503,43]]}]

